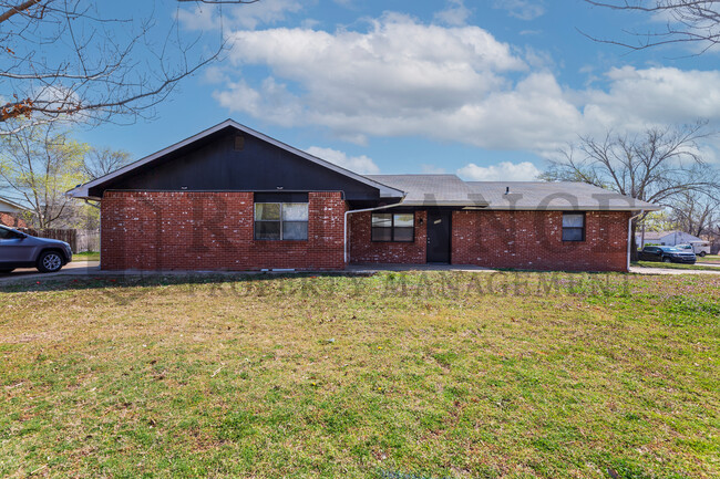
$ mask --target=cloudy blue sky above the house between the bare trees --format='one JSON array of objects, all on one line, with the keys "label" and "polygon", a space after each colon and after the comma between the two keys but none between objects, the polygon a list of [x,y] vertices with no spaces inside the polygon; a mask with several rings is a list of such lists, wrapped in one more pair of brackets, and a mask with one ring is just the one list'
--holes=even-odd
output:
[{"label": "cloudy blue sky above the house between the bare trees", "polygon": [[[187,38],[214,44],[216,8],[169,3],[158,19],[178,15]],[[593,42],[578,29],[628,39],[665,20],[582,0],[261,0],[223,13],[223,61],[152,121],[81,139],[141,158],[232,117],[359,173],[522,180],[578,135],[720,126],[717,52]],[[713,142],[701,149],[717,163]]]}]

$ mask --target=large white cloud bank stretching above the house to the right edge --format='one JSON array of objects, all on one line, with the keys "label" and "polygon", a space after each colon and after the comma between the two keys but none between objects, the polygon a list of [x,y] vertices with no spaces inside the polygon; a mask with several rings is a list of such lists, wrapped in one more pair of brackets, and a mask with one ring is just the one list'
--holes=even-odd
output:
[{"label": "large white cloud bank stretching above the house to the right edge", "polygon": [[574,90],[558,83],[543,52],[514,49],[477,27],[385,14],[367,31],[232,37],[227,75],[255,65],[270,73],[224,83],[215,92],[223,106],[282,126],[322,126],[357,144],[421,136],[549,156],[577,135],[608,128],[720,122],[719,71],[626,66],[590,72],[593,86]]}]

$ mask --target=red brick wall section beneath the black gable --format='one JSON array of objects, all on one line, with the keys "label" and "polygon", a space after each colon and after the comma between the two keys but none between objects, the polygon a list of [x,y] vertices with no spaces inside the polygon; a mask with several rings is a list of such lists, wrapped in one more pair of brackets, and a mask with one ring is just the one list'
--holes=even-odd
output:
[{"label": "red brick wall section beneath the black gable", "polygon": [[251,192],[106,191],[102,269],[342,269],[344,211],[310,192],[307,241],[255,241]]}]

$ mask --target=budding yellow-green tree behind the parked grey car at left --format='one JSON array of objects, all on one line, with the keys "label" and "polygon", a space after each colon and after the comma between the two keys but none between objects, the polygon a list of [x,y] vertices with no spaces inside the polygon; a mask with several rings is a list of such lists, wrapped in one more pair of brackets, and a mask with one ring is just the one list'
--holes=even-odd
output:
[{"label": "budding yellow-green tree behind the parked grey car at left", "polygon": [[82,183],[88,145],[53,124],[21,128],[0,139],[0,190],[33,211],[38,228],[68,226],[80,207],[64,192]]}]

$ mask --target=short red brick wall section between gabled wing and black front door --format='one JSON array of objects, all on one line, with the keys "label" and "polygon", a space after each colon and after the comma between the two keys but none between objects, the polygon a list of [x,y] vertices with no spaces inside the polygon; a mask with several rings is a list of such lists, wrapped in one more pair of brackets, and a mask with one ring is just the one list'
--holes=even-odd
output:
[{"label": "short red brick wall section between gabled wing and black front door", "polygon": [[[391,212],[389,209],[388,212]],[[379,212],[383,212],[382,210]],[[414,242],[373,242],[371,239],[371,211],[349,215],[351,263],[405,263],[425,262],[428,248],[428,215],[415,211]],[[422,225],[420,225],[422,220]]]}]

